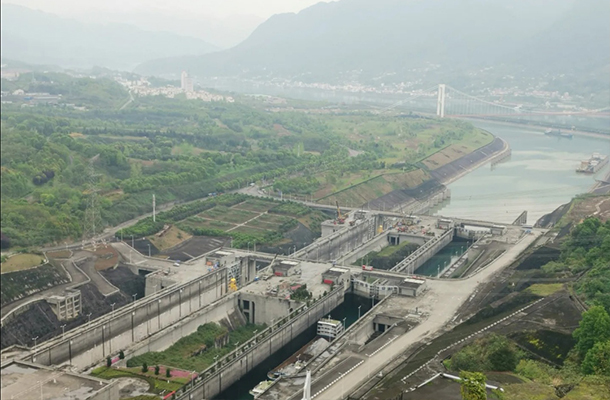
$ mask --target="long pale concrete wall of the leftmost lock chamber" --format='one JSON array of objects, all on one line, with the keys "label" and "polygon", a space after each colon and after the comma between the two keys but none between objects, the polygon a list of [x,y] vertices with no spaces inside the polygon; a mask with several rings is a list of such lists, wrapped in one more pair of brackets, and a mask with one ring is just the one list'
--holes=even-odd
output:
[{"label": "long pale concrete wall of the leftmost lock chamber", "polygon": [[43,365],[70,362],[85,369],[216,301],[227,293],[227,284],[223,268],[164,289],[43,343],[27,358]]}]

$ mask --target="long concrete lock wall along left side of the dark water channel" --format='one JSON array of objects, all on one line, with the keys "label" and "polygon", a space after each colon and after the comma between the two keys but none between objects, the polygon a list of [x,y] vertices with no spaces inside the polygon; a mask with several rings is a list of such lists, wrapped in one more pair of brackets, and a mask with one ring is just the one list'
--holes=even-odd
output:
[{"label": "long concrete lock wall along left side of the dark water channel", "polygon": [[219,395],[258,364],[287,345],[296,336],[328,315],[335,307],[343,303],[343,299],[343,290],[341,288],[335,289],[323,300],[300,312],[282,327],[276,328],[266,337],[260,338],[256,345],[244,350],[230,362],[223,364],[203,381],[195,384],[193,388],[187,389],[179,399],[210,399]]}]

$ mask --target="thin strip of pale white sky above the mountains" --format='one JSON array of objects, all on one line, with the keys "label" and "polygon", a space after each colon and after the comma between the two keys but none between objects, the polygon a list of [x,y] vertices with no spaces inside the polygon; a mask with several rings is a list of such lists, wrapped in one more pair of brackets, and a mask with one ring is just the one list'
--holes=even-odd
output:
[{"label": "thin strip of pale white sky above the mountains", "polygon": [[[163,12],[181,17],[195,15],[225,17],[250,14],[268,18],[297,12],[321,0],[2,0],[63,16],[95,12]],[[328,0],[325,0],[328,1]]]}]

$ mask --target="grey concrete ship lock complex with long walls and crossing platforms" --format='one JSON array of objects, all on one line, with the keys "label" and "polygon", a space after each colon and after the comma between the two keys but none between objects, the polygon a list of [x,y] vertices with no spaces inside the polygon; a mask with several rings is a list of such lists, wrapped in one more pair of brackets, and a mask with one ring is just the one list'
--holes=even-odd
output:
[{"label": "grey concrete ship lock complex with long walls and crossing platforms", "polygon": [[[130,268],[148,272],[146,296],[23,350],[15,358],[85,371],[119,351],[124,351],[128,360],[165,350],[208,322],[222,322],[232,328],[246,323],[266,324],[267,328],[251,340],[200,371],[180,397],[213,398],[327,316],[343,302],[347,292],[373,302],[394,296],[421,296],[427,290],[428,278],[414,276],[419,265],[454,235],[473,234],[469,227],[478,226],[491,237],[491,227],[495,226],[481,221],[465,225],[460,220],[447,225],[437,217],[421,216],[413,217],[413,224],[403,229],[397,227],[401,218],[404,215],[400,213],[353,212],[344,224],[332,224],[334,228],[326,235],[291,256],[220,248],[179,266],[141,254],[134,260],[133,249],[125,243],[113,243],[121,257],[131,261]],[[522,231],[518,226],[506,229],[514,237]],[[475,230],[474,234],[480,233]],[[497,236],[508,240],[511,235]],[[363,270],[352,265],[363,254],[404,242],[420,247],[391,270],[374,266]],[[237,290],[231,289],[231,282],[236,283]],[[291,300],[290,288],[295,285],[307,285],[312,300]],[[373,319],[370,327],[362,328],[367,335],[392,325],[382,317]]]}]

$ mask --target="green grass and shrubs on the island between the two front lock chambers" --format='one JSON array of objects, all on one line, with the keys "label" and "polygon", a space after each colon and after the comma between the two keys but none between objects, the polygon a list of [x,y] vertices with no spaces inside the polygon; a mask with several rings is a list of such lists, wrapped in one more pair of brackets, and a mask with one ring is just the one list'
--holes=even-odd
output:
[{"label": "green grass and shrubs on the island between the two front lock chambers", "polygon": [[197,332],[185,336],[161,352],[148,352],[127,361],[128,367],[137,368],[145,363],[167,365],[188,371],[203,371],[214,364],[214,358],[222,358],[235,349],[235,343],[244,343],[259,332],[264,325],[249,324],[229,332],[224,326],[208,323],[197,328]]}]

